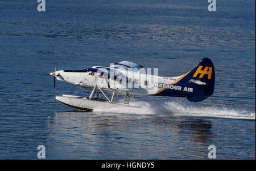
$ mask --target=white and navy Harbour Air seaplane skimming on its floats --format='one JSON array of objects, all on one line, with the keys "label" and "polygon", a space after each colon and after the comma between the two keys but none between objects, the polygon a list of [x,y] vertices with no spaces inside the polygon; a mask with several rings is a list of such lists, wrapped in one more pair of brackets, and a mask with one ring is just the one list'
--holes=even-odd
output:
[{"label": "white and navy Harbour Air seaplane skimming on its floats", "polygon": [[[109,108],[141,108],[129,105],[131,95],[186,97],[199,102],[214,91],[214,66],[209,58],[201,59],[195,69],[174,76],[158,76],[158,69],[146,69],[134,62],[110,63],[108,67],[93,66],[83,70],[59,70],[51,72],[54,88],[56,79],[72,86],[92,91],[89,97],[77,95],[56,96],[60,103],[79,110]],[[99,97],[102,93],[104,99]],[[118,96],[123,95],[123,100]],[[127,109],[127,108],[126,108]]]}]

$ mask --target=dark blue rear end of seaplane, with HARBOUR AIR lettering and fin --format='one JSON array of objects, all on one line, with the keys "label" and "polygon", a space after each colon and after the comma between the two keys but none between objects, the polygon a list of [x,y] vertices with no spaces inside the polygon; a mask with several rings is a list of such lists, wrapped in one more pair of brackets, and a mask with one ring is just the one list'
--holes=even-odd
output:
[{"label": "dark blue rear end of seaplane, with HARBOUR AIR lettering and fin", "polygon": [[[175,83],[164,85],[165,87],[154,95],[187,97],[189,101],[197,102],[205,100],[213,94],[214,83],[213,63],[209,58],[204,58],[195,69],[182,75]],[[158,87],[162,86],[162,84],[158,84]]]}]

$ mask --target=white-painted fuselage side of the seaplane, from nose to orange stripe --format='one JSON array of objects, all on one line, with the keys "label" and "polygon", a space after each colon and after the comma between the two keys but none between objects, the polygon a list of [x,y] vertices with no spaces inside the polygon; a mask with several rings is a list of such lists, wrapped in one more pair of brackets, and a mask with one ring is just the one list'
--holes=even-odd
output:
[{"label": "white-painted fuselage side of the seaplane, from nose to orange stripe", "polygon": [[184,76],[170,78],[143,74],[141,72],[116,70],[119,75],[115,76],[104,76],[92,71],[77,72],[64,70],[55,71],[55,74],[57,80],[82,89],[93,89],[97,84],[106,93],[112,93],[115,90],[118,95],[125,95],[126,91],[130,91],[132,95],[141,96],[154,95],[165,88],[181,90],[179,86],[171,87],[170,85]]}]

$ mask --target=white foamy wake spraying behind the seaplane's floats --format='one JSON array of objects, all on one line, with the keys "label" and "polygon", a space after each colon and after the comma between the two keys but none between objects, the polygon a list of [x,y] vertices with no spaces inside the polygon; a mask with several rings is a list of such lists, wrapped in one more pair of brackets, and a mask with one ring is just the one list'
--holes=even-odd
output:
[{"label": "white foamy wake spraying behind the seaplane's floats", "polygon": [[182,101],[166,101],[162,104],[158,104],[157,102],[130,101],[129,105],[141,106],[141,108],[129,108],[126,106],[121,106],[110,109],[95,109],[93,111],[120,114],[159,114],[177,117],[192,116],[255,120],[255,112],[220,106],[195,106]]}]

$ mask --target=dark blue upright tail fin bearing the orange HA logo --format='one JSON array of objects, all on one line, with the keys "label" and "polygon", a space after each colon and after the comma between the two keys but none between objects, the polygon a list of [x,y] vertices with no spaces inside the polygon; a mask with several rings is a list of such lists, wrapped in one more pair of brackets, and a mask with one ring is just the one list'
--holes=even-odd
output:
[{"label": "dark blue upright tail fin bearing the orange HA logo", "polygon": [[195,69],[184,76],[182,82],[192,86],[195,92],[187,96],[189,101],[197,102],[207,99],[214,91],[215,72],[212,61],[209,58],[202,59]]}]

